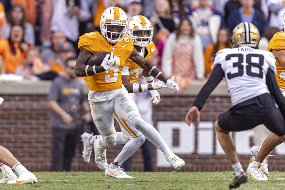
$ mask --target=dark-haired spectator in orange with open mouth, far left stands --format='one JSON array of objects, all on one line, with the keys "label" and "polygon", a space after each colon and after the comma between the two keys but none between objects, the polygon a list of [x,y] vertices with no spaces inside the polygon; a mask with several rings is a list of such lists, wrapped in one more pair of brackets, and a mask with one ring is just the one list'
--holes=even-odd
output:
[{"label": "dark-haired spectator in orange with open mouth, far left stands", "polygon": [[11,28],[9,39],[0,39],[0,55],[6,72],[14,73],[17,66],[24,63],[27,51],[34,45],[23,42],[24,30],[15,25]]}]

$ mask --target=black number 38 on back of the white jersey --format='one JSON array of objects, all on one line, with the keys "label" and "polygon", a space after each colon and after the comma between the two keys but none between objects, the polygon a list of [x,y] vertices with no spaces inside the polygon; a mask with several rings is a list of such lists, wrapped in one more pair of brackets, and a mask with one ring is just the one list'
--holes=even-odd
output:
[{"label": "black number 38 on back of the white jersey", "polygon": [[[237,73],[231,73],[228,72],[227,73],[227,77],[228,79],[232,79],[235,77],[241,77],[244,74],[243,71],[243,62],[244,62],[244,58],[243,58],[243,54],[241,53],[235,53],[235,54],[229,54],[226,56],[226,61],[230,60],[231,58],[237,57],[238,58],[238,62],[234,62],[232,63],[233,67],[238,67],[238,72]],[[259,58],[259,61],[257,62],[252,62],[251,58]],[[250,77],[258,77],[258,78],[262,78],[263,77],[263,72],[262,72],[262,65],[263,65],[263,61],[264,61],[264,56],[261,54],[253,54],[253,53],[249,53],[246,55],[246,75],[250,76]],[[256,67],[259,69],[259,73],[256,72],[252,72],[252,67]]]}]

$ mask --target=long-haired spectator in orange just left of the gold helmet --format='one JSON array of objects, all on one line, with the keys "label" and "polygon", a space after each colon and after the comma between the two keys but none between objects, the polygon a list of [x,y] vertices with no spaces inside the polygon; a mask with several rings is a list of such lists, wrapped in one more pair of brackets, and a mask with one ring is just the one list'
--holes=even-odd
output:
[{"label": "long-haired spectator in orange just left of the gold helmet", "polygon": [[219,29],[217,43],[208,45],[204,51],[205,76],[207,78],[209,78],[212,73],[211,67],[214,62],[215,54],[224,48],[232,48],[230,32],[226,27]]}]

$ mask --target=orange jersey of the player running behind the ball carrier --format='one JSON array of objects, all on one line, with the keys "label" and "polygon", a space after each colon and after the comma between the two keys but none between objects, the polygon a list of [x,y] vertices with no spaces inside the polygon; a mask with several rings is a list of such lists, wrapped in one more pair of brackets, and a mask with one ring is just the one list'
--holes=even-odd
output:
[{"label": "orange jersey of the player running behind the ball carrier", "polygon": [[[145,50],[147,51],[147,55],[144,58],[149,60],[155,52],[155,45],[152,41],[150,45],[145,47]],[[139,77],[139,75],[143,72],[143,69],[130,59],[126,60],[125,65],[129,66],[130,82],[136,83],[137,77]]]}]

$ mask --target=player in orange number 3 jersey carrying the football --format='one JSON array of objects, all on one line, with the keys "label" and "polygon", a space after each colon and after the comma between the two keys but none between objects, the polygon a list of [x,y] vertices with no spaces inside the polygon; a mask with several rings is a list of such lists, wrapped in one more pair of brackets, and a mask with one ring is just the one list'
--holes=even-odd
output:
[{"label": "player in orange number 3 jersey carrying the football", "polygon": [[[142,132],[164,153],[168,162],[179,169],[185,162],[169,149],[157,130],[140,117],[136,104],[122,84],[121,71],[129,58],[149,75],[164,82],[172,91],[178,91],[179,87],[174,80],[167,79],[156,66],[140,56],[134,49],[131,37],[126,34],[127,28],[126,13],[118,7],[109,7],[101,16],[101,34],[99,32],[84,34],[78,42],[81,52],[77,58],[75,73],[77,76],[84,76],[89,86],[88,100],[91,114],[102,136],[94,141],[95,163],[100,169],[105,170],[106,149],[116,145],[114,112],[119,118],[129,121],[135,129]],[[92,68],[86,65],[93,54],[102,51],[111,52],[110,59],[108,54],[100,66]],[[140,85],[138,91],[143,89],[145,87]],[[113,175],[118,176],[122,172],[123,170],[117,166],[117,173]]]}]

